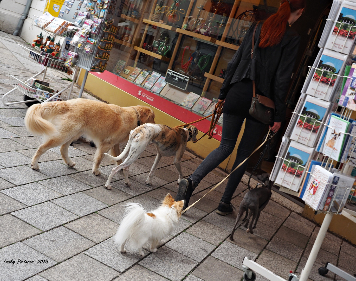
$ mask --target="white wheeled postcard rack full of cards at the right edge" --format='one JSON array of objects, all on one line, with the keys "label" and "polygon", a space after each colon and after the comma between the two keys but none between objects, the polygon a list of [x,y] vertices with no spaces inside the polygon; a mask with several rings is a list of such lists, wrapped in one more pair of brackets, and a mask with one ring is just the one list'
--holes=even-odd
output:
[{"label": "white wheeled postcard rack full of cards at the right edge", "polygon": [[[352,217],[343,209],[347,201],[356,201],[356,121],[351,119],[356,110],[355,18],[356,1],[333,1],[320,52],[309,67],[271,172],[280,191],[302,198],[315,214],[325,214],[301,274],[291,272],[289,281],[308,280],[334,214]],[[243,267],[246,281],[256,278],[254,272],[284,280],[247,257]],[[319,274],[329,270],[356,280],[330,263],[320,267]]]}]

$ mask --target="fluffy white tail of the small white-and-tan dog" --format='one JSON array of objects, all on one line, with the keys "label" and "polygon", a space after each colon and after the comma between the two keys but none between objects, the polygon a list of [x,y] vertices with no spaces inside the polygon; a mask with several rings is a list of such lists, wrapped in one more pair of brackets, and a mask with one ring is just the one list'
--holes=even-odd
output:
[{"label": "fluffy white tail of the small white-and-tan dog", "polygon": [[115,235],[115,244],[125,243],[132,250],[138,250],[145,244],[147,235],[143,235],[142,224],[145,220],[145,210],[141,204],[128,203],[125,211],[126,215],[122,219]]}]

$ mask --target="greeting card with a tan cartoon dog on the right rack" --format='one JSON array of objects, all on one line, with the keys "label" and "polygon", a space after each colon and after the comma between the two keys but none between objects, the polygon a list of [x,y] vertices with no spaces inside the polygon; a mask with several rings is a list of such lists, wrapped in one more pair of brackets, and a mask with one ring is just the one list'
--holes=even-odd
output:
[{"label": "greeting card with a tan cartoon dog on the right rack", "polygon": [[346,133],[348,132],[350,122],[335,115],[330,116],[328,130],[326,131],[323,154],[330,159],[339,161],[342,147],[345,142]]}]

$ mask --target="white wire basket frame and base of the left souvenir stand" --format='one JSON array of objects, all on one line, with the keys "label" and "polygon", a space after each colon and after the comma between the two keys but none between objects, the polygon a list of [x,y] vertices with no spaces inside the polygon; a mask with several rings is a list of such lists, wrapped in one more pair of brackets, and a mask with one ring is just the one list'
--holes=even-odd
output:
[{"label": "white wire basket frame and base of the left souvenir stand", "polygon": [[[66,100],[68,100],[70,97],[70,94],[72,93],[74,81],[77,77],[78,67],[77,66],[74,67],[72,83],[67,85],[65,88],[63,88],[59,92],[52,94],[45,90],[40,90],[36,87],[33,87],[32,85],[30,85],[28,83],[32,79],[40,76],[41,74],[43,74],[42,80],[44,80],[46,78],[47,68],[52,68],[52,69],[62,72],[62,73],[67,73],[68,70],[70,70],[70,68],[65,66],[63,61],[60,61],[55,58],[46,57],[43,54],[36,52],[35,49],[31,50],[25,46],[20,45],[20,44],[18,44],[18,45],[23,48],[21,55],[24,58],[31,59],[31,60],[41,64],[43,66],[43,69],[25,81],[22,81],[22,80],[16,78],[15,76],[10,75],[12,78],[11,85],[14,86],[14,88],[2,96],[2,99],[1,99],[2,103],[5,105],[12,105],[12,104],[29,103],[29,102],[36,102],[36,101],[42,103],[42,102],[49,102],[49,101],[55,101],[55,100],[63,100],[62,97],[58,97],[58,96],[60,94],[62,94],[64,91],[66,91],[67,89],[69,89],[69,93],[66,98]],[[49,79],[51,79],[51,78],[49,78]],[[52,80],[52,81],[55,82],[54,80]],[[57,82],[55,82],[55,83],[57,83]],[[59,83],[57,83],[57,84],[60,85]],[[11,103],[6,102],[5,97],[7,95],[11,94],[12,92],[14,92],[15,90],[19,90],[20,92],[22,92],[24,94],[24,97],[23,97],[24,100],[20,101],[20,102],[11,102]],[[28,97],[30,99],[28,99],[26,97]]]}]

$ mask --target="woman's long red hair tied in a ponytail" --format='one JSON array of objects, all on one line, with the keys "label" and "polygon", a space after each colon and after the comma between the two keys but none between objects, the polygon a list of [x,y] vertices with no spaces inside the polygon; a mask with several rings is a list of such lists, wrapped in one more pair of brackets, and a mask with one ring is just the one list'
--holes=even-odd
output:
[{"label": "woman's long red hair tied in a ponytail", "polygon": [[271,47],[281,42],[290,13],[304,8],[305,0],[282,0],[277,13],[270,16],[262,25],[258,47]]}]

